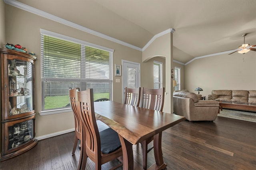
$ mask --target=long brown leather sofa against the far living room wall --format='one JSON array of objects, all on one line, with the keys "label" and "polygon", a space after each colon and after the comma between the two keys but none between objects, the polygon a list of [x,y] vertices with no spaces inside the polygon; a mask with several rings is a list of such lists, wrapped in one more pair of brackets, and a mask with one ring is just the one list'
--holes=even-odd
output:
[{"label": "long brown leather sofa against the far living room wall", "polygon": [[212,90],[208,100],[220,102],[220,107],[256,112],[256,90]]}]

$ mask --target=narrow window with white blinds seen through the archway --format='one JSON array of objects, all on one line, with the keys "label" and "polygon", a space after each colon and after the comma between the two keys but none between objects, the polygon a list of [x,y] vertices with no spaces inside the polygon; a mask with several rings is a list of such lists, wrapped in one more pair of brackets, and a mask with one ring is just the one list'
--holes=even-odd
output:
[{"label": "narrow window with white blinds seen through the archway", "polygon": [[154,89],[163,87],[163,63],[154,61]]}]

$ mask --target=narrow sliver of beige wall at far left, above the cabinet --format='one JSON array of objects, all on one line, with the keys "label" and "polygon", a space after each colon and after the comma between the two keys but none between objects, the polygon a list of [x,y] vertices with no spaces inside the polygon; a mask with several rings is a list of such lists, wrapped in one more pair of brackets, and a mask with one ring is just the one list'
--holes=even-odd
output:
[{"label": "narrow sliver of beige wall at far left, above the cabinet", "polygon": [[0,0],[0,48],[4,47],[5,42],[5,14],[4,14],[4,1]]}]

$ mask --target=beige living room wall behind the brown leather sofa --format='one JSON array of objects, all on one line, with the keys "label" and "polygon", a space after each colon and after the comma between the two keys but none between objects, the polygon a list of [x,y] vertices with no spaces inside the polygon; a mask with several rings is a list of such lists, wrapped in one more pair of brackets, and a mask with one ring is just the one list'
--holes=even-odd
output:
[{"label": "beige living room wall behind the brown leather sofa", "polygon": [[185,89],[202,88],[208,98],[212,90],[256,90],[256,52],[223,54],[194,60],[185,66]]}]

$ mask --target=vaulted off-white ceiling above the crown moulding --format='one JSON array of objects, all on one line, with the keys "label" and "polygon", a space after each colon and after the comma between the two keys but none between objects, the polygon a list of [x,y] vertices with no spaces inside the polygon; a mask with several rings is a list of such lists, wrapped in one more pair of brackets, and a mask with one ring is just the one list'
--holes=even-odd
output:
[{"label": "vaulted off-white ceiling above the crown moulding", "polygon": [[18,2],[140,49],[154,35],[173,28],[176,30],[173,33],[174,60],[182,63],[187,63],[195,57],[236,49],[243,44],[243,33],[248,33],[246,43],[256,45],[256,0]]}]

